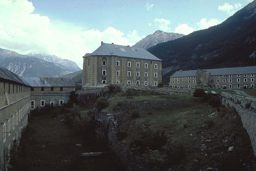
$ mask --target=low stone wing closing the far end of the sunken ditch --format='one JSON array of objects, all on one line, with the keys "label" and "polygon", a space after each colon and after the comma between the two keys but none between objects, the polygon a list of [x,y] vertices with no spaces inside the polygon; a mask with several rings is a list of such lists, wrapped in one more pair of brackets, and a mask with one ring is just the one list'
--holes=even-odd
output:
[{"label": "low stone wing closing the far end of the sunken ditch", "polygon": [[68,103],[70,92],[75,91],[71,78],[23,77],[31,86],[31,109],[46,105],[61,106]]}]

